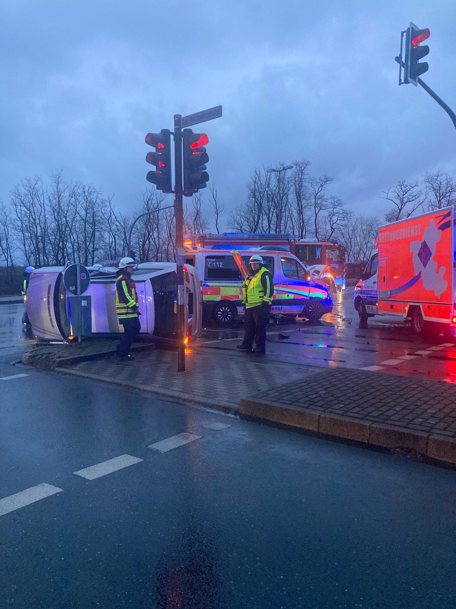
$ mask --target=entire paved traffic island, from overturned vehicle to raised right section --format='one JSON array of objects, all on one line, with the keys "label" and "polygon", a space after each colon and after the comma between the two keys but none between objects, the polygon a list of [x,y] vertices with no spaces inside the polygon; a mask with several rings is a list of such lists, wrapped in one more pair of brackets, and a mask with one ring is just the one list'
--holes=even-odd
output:
[{"label": "entire paved traffic island, from overturned vehicle to raised right section", "polygon": [[235,348],[204,346],[186,350],[186,370],[178,373],[174,351],[137,345],[134,361],[119,362],[112,357],[116,344],[107,340],[35,347],[24,361],[366,447],[456,464],[455,385],[285,364]]}]

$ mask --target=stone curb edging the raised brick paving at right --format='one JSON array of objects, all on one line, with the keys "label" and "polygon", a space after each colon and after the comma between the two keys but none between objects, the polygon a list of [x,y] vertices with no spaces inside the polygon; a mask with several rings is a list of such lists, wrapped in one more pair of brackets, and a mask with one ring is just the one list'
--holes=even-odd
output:
[{"label": "stone curb edging the raised brick paving at right", "polygon": [[287,427],[314,432],[325,437],[345,438],[366,447],[401,450],[445,463],[456,463],[456,439],[438,434],[369,423],[342,415],[328,415],[311,409],[265,403],[255,398],[242,398],[238,414],[249,420],[259,419]]}]

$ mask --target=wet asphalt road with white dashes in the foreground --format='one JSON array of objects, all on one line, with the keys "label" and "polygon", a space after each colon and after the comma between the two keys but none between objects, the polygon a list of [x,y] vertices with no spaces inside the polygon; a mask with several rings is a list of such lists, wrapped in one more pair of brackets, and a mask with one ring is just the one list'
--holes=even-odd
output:
[{"label": "wet asphalt road with white dashes in the foreground", "polygon": [[0,607],[455,606],[454,471],[13,371],[2,358]]}]

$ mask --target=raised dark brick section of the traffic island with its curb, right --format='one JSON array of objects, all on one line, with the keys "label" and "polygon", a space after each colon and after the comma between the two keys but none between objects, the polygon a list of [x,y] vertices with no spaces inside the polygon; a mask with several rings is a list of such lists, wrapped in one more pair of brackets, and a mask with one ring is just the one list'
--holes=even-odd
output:
[{"label": "raised dark brick section of the traffic island with its curb, right", "polygon": [[446,382],[335,368],[242,398],[239,414],[418,460],[456,464],[456,387]]}]

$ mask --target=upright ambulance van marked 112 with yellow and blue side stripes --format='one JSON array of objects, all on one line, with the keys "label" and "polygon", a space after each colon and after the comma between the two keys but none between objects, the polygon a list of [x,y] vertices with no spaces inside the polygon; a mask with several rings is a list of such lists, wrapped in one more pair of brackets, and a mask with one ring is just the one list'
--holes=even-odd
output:
[{"label": "upright ambulance van marked 112 with yellow and blue side stripes", "polygon": [[[202,311],[207,320],[227,325],[244,315],[241,302],[243,276],[256,250],[209,250],[184,247],[184,262],[196,267],[200,277]],[[309,279],[307,270],[289,252],[261,251],[274,281],[271,314],[317,320],[333,309],[328,287]]]}]

